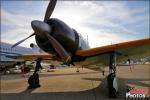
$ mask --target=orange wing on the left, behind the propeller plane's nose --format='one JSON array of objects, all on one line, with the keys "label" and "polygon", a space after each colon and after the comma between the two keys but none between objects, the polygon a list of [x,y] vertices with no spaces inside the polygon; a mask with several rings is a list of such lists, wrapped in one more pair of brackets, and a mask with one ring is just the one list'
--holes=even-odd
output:
[{"label": "orange wing on the left, behind the propeller plane's nose", "polygon": [[9,58],[13,59],[23,59],[25,61],[27,60],[35,60],[37,58],[42,58],[44,60],[53,59],[53,56],[48,53],[38,53],[38,54],[23,54],[23,55],[15,55],[15,56],[7,56]]}]

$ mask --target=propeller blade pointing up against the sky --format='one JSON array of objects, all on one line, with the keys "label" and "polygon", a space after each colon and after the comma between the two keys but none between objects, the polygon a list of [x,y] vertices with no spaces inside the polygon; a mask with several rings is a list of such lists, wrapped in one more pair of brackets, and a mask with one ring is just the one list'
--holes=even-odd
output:
[{"label": "propeller blade pointing up against the sky", "polygon": [[57,0],[51,0],[49,2],[49,5],[47,7],[46,13],[45,13],[45,17],[44,17],[44,22],[47,22],[47,20],[50,18],[50,16],[53,13],[53,10],[55,8]]}]

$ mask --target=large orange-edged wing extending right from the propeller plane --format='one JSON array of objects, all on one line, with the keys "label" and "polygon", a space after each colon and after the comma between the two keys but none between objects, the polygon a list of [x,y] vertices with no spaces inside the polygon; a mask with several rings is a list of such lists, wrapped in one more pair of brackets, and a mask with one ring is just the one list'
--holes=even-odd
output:
[{"label": "large orange-edged wing extending right from the propeller plane", "polygon": [[82,65],[98,63],[108,65],[109,54],[113,51],[117,54],[117,61],[119,62],[125,61],[128,58],[138,59],[150,56],[150,38],[106,45],[88,50],[79,50],[76,52],[74,59],[84,59]]}]

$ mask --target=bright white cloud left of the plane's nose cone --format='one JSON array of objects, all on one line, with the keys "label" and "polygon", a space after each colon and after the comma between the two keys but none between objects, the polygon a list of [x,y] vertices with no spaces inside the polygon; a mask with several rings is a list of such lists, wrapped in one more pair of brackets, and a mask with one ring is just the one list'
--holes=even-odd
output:
[{"label": "bright white cloud left of the plane's nose cone", "polygon": [[[22,15],[21,13],[11,13],[1,9],[1,25],[12,27],[10,30],[2,29],[1,40],[8,43],[16,43],[33,33],[31,21],[41,16]],[[28,39],[21,45],[29,47],[30,43],[35,43],[35,39]]]}]

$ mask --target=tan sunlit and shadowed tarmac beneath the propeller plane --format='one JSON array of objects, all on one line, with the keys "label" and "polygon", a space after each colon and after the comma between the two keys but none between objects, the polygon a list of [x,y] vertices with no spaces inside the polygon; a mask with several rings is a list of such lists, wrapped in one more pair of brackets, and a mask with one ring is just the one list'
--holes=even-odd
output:
[{"label": "tan sunlit and shadowed tarmac beneath the propeller plane", "polygon": [[[40,73],[40,87],[28,89],[32,73],[2,75],[0,100],[111,100],[108,98],[106,76],[86,68],[54,69]],[[150,65],[117,66],[119,93],[116,100],[124,100],[128,87],[150,89]],[[147,98],[148,99],[148,98]]]}]

